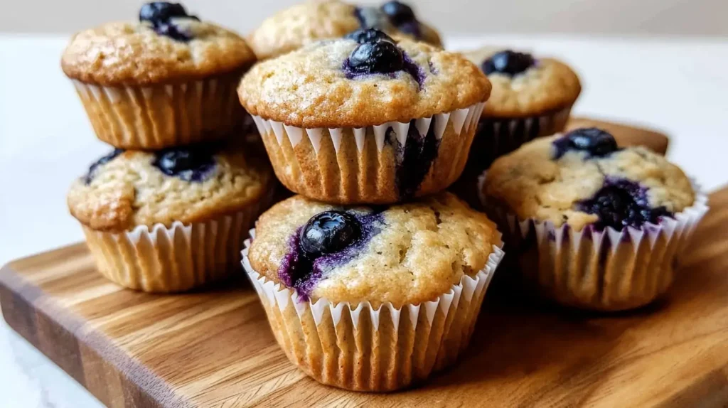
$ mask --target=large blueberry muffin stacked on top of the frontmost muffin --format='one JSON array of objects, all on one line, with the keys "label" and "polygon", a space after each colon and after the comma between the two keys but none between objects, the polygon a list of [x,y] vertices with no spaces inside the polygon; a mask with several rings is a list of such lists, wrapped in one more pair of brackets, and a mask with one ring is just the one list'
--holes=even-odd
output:
[{"label": "large blueberry muffin stacked on top of the frontmost muffin", "polygon": [[258,63],[238,93],[291,191],[389,204],[456,180],[490,84],[462,55],[365,30]]}]

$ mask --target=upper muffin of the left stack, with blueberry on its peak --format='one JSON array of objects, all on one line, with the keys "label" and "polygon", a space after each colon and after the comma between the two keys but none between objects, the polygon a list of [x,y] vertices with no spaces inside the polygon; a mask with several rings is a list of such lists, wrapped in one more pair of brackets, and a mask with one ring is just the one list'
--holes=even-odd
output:
[{"label": "upper muffin of the left stack, with blueberry on its peak", "polygon": [[61,66],[100,140],[153,150],[229,135],[242,119],[235,87],[254,61],[236,33],[154,2],[138,23],[76,33]]}]

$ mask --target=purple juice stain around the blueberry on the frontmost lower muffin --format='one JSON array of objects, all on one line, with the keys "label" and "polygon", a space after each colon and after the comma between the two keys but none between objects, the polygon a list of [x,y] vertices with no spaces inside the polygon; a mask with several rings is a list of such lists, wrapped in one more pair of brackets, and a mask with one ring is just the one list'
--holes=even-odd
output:
[{"label": "purple juice stain around the blueberry on the frontmost lower muffin", "polygon": [[[305,225],[296,229],[288,239],[288,252],[278,268],[278,278],[286,287],[296,290],[298,300],[307,301],[321,279],[331,269],[354,260],[365,249],[371,238],[381,231],[384,224],[382,209],[361,214],[350,212],[358,222],[359,235],[347,247],[327,254],[311,256],[301,246],[301,231]],[[315,216],[314,216],[315,217]]]}]

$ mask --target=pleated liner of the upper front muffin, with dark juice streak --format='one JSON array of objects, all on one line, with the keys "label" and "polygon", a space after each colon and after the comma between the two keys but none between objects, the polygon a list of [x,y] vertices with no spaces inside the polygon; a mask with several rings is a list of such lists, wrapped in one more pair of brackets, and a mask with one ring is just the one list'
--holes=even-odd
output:
[{"label": "pleated liner of the upper front muffin, with dark juice streak", "polygon": [[[415,196],[442,191],[459,177],[483,106],[363,128],[304,129],[253,119],[278,179],[291,191],[339,204],[386,204],[408,198],[397,181],[408,172],[422,172]],[[403,165],[405,150],[418,159]]]}]

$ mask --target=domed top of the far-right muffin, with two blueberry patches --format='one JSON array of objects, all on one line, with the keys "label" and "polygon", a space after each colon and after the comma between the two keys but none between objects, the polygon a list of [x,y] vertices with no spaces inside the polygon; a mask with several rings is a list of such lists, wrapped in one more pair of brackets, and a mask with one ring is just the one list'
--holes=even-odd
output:
[{"label": "domed top of the far-right muffin, with two blueberry patches", "polygon": [[621,231],[672,217],[695,201],[681,169],[643,147],[617,148],[603,130],[539,138],[497,159],[481,186],[488,206],[575,231]]}]

